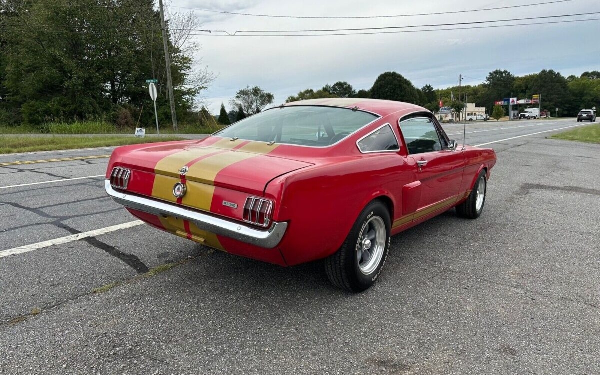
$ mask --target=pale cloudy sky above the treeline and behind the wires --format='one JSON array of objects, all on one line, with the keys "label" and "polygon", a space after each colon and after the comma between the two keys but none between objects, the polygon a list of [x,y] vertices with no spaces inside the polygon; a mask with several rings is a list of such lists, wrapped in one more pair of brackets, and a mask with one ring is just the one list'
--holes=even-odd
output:
[{"label": "pale cloudy sky above the treeline and behind the wires", "polygon": [[[233,16],[189,10],[202,8],[236,13],[283,16],[389,16],[481,10],[553,0],[172,0],[170,12],[193,12],[209,30],[289,30],[380,28],[479,22],[562,14],[584,16],[557,20],[600,19],[598,0],[477,11],[463,14],[384,19],[282,19]],[[548,22],[533,20],[529,22]],[[527,21],[513,22],[525,23]],[[472,27],[472,26],[466,26]],[[194,34],[203,34],[197,33]],[[215,35],[218,33],[212,33]],[[202,98],[213,113],[246,86],[260,86],[275,95],[274,105],[305,89],[349,82],[357,91],[369,89],[377,76],[396,71],[421,88],[477,85],[490,71],[506,69],[521,76],[554,69],[564,76],[600,70],[600,21],[556,25],[515,26],[475,30],[335,37],[247,38],[194,36],[198,61],[217,75]]]}]

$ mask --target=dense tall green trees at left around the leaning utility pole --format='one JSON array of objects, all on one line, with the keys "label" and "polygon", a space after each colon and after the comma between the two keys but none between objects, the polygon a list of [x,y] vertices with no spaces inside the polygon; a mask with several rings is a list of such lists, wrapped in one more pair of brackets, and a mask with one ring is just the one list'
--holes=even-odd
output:
[{"label": "dense tall green trees at left around the leaning utility pole", "polygon": [[[0,1],[1,14],[7,3]],[[77,119],[116,121],[127,116],[124,110],[131,115],[131,111],[151,103],[146,79],[152,78],[158,79],[160,121],[170,121],[160,17],[154,1],[78,0],[77,6],[66,0],[54,3],[59,6],[48,7],[42,0],[11,5],[10,23],[19,28],[5,30],[4,16],[0,16],[0,95],[6,92],[2,106],[33,124]],[[187,30],[197,28],[198,23],[190,23],[196,19],[193,15],[186,17],[179,24],[182,27],[169,27],[167,43],[179,117],[197,119],[194,99],[214,75],[194,67],[196,49],[189,48]],[[170,19],[176,19],[176,14]],[[127,32],[120,32],[124,25]],[[183,27],[186,25],[194,27]],[[68,32],[61,31],[65,28]],[[142,124],[154,122],[152,112],[142,112]]]}]

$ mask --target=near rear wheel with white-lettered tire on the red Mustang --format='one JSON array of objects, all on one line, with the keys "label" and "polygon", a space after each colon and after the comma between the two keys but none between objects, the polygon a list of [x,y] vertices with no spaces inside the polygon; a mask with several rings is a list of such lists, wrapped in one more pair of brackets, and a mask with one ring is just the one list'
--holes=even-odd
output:
[{"label": "near rear wheel with white-lettered tire on the red Mustang", "polygon": [[353,293],[373,286],[388,258],[391,231],[388,208],[379,200],[369,203],[340,250],[325,261],[331,283]]}]

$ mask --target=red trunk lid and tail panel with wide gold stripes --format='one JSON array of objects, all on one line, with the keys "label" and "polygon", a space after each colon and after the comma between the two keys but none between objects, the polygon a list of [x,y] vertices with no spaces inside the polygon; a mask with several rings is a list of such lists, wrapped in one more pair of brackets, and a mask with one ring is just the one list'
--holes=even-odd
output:
[{"label": "red trunk lid and tail panel with wide gold stripes", "polygon": [[[248,196],[262,197],[272,179],[314,165],[269,155],[276,148],[230,139],[164,143],[124,152],[118,164],[132,170],[127,189],[132,193],[242,220]],[[179,198],[173,194],[178,182],[187,187]]]}]

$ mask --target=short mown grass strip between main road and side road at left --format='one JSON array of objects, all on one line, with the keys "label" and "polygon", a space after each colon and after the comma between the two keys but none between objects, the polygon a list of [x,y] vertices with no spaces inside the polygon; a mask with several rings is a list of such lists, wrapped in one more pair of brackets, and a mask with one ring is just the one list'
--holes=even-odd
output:
[{"label": "short mown grass strip between main road and side road at left", "polygon": [[169,142],[184,140],[181,137],[152,137],[134,138],[122,136],[95,136],[95,137],[28,137],[28,136],[0,136],[0,154],[14,154],[16,152],[57,151],[77,148],[110,147],[124,145],[138,145],[140,143]]}]

